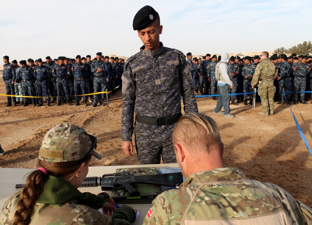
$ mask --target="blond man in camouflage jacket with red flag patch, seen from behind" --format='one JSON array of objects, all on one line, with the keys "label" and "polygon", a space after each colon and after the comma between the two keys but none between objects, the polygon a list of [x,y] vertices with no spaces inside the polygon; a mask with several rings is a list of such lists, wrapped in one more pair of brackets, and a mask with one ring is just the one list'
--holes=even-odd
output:
[{"label": "blond man in camouflage jacket with red flag patch, seen from behind", "polygon": [[310,224],[312,209],[287,191],[224,168],[224,144],[209,116],[183,115],[172,139],[186,180],[153,200],[144,224]]}]

